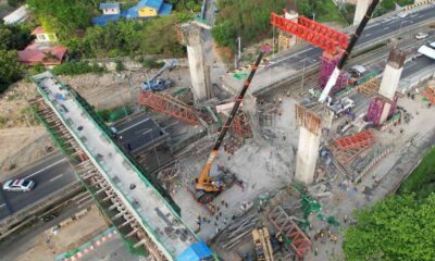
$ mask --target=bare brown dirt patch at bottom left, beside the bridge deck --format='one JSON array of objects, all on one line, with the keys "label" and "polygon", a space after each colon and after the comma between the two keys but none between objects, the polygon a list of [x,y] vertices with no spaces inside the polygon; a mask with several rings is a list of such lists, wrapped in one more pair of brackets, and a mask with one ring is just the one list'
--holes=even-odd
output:
[{"label": "bare brown dirt patch at bottom left, beside the bridge deck", "polygon": [[85,216],[59,228],[57,234],[51,233],[50,229],[41,233],[36,238],[34,246],[22,251],[16,260],[53,260],[57,254],[74,250],[107,228],[103,216],[94,206]]}]

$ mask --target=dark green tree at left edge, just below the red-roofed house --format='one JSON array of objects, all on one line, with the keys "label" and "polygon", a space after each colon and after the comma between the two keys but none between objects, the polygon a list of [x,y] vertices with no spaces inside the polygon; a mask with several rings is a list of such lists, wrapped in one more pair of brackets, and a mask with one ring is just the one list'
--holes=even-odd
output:
[{"label": "dark green tree at left edge, just below the red-roofed house", "polygon": [[17,58],[18,54],[14,50],[0,50],[0,94],[23,75],[24,67]]}]

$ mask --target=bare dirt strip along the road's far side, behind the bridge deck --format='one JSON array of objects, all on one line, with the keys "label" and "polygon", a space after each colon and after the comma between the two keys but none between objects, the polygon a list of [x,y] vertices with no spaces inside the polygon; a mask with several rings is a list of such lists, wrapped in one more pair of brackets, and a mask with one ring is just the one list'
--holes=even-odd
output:
[{"label": "bare dirt strip along the road's far side, behind the bridge deck", "polygon": [[[147,78],[146,74],[152,77],[156,72],[157,70],[132,72],[132,88],[127,76],[129,72],[60,76],[60,78],[75,88],[97,110],[101,110],[124,103],[137,104],[139,86]],[[175,86],[169,91],[190,86],[190,76],[186,67],[166,71],[160,77],[169,77],[175,82]],[[132,99],[132,94],[134,99]],[[1,175],[9,175],[11,171],[37,161],[46,154],[47,151],[44,148],[53,147],[45,129],[38,125],[38,122],[33,121],[28,112],[25,111],[29,105],[28,100],[36,95],[37,90],[34,84],[23,79],[12,85],[0,97]],[[29,124],[35,126],[29,126]]]}]

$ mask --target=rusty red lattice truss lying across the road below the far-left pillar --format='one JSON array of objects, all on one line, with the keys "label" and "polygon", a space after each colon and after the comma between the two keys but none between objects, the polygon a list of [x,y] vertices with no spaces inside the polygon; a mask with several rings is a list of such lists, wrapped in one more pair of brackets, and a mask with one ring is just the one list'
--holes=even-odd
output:
[{"label": "rusty red lattice truss lying across the road below the far-left pillar", "polygon": [[139,103],[183,122],[199,124],[195,110],[171,96],[145,90],[140,92]]}]

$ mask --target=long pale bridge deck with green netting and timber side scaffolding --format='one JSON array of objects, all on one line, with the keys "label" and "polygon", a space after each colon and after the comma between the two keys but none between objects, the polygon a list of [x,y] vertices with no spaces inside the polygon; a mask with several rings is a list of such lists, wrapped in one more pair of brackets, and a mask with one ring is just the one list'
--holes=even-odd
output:
[{"label": "long pale bridge deck with green netting and timber side scaffolding", "polygon": [[75,160],[78,177],[128,246],[145,246],[153,260],[174,261],[200,244],[208,256],[190,260],[213,258],[183,222],[167,191],[124,152],[78,94],[51,72],[32,79],[41,97],[35,110],[50,124],[52,137],[63,140],[62,148]]}]

